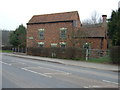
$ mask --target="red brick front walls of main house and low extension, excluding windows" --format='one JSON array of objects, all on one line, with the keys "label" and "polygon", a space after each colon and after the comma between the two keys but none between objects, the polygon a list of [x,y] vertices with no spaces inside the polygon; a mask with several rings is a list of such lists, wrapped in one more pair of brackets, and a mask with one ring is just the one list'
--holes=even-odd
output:
[{"label": "red brick front walls of main house and low extension, excluding windows", "polygon": [[[67,28],[67,39],[60,39],[60,28]],[[39,39],[38,29],[44,28],[45,39]],[[71,36],[73,34],[73,24],[72,22],[58,22],[58,23],[46,23],[46,24],[34,24],[28,25],[27,27],[27,47],[38,47],[38,42],[44,42],[45,47],[50,47],[51,43],[58,43],[60,47],[60,42],[66,42],[67,47],[73,46],[73,40]],[[33,39],[29,39],[33,37]],[[89,42],[91,44],[91,49],[107,49],[107,40],[105,38],[84,38],[80,39],[79,45],[77,47],[82,47],[83,43]]]}]

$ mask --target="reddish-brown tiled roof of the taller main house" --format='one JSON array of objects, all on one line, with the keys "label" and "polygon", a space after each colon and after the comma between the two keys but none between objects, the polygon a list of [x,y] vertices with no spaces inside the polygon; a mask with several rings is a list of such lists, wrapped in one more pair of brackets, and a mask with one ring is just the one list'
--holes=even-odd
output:
[{"label": "reddish-brown tiled roof of the taller main house", "polygon": [[77,16],[78,16],[77,11],[64,12],[64,13],[54,13],[54,14],[44,14],[44,15],[34,15],[28,23],[71,21],[71,20],[76,20]]}]

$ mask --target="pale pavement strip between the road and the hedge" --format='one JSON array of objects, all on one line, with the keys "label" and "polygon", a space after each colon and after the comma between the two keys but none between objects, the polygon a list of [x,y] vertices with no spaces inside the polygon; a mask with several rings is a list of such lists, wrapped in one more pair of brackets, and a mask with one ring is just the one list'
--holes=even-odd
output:
[{"label": "pale pavement strip between the road and the hedge", "polygon": [[4,53],[4,54],[9,56],[19,57],[19,58],[47,61],[47,62],[65,64],[65,65],[80,66],[85,68],[94,68],[99,70],[109,70],[109,71],[115,71],[115,72],[120,71],[117,65],[111,65],[111,64],[98,64],[98,63],[91,63],[91,62],[85,62],[85,61],[73,61],[73,60],[66,60],[66,59],[30,56],[30,55],[25,55],[20,53]]}]

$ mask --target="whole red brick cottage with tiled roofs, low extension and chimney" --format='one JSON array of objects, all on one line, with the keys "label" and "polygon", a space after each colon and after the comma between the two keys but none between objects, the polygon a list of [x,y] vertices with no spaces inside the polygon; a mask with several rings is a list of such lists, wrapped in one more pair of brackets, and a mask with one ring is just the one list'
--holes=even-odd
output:
[{"label": "whole red brick cottage with tiled roofs, low extension and chimney", "polygon": [[83,26],[77,11],[34,15],[27,23],[29,47],[81,47],[107,50],[106,15],[103,23]]}]

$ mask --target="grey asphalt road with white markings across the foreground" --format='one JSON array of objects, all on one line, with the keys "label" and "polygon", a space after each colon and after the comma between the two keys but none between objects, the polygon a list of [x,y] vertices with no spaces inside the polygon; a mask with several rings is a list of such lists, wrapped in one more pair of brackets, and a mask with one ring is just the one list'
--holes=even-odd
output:
[{"label": "grey asphalt road with white markings across the foreground", "polygon": [[118,72],[3,54],[2,88],[118,88]]}]

